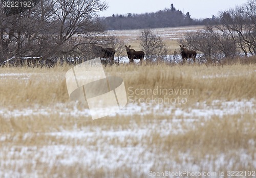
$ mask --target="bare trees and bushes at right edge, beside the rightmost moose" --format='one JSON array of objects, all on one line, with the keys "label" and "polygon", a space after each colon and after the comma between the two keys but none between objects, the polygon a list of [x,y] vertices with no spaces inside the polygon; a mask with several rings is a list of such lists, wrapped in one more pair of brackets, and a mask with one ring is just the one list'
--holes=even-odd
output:
[{"label": "bare trees and bushes at right edge, beside the rightmost moose", "polygon": [[204,30],[186,34],[180,43],[200,50],[207,58],[233,58],[241,50],[245,56],[256,55],[256,0],[221,12]]}]

